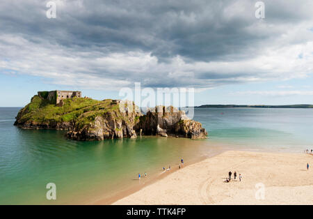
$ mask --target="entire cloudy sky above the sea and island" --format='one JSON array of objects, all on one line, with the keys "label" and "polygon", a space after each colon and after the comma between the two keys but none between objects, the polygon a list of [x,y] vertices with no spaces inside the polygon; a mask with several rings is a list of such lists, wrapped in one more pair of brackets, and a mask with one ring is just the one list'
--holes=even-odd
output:
[{"label": "entire cloudy sky above the sea and island", "polygon": [[0,1],[0,106],[38,90],[96,99],[195,88],[195,105],[313,104],[313,1]]}]

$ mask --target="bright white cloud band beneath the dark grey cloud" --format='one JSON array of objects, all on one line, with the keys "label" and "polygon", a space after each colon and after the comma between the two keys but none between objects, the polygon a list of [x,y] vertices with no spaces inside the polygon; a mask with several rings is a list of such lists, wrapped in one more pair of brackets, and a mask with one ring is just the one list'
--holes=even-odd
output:
[{"label": "bright white cloud band beneath the dark grey cloud", "polygon": [[[182,56],[175,56],[162,63],[157,56],[142,51],[85,52],[47,42],[35,44],[10,35],[0,36],[0,50],[3,51],[0,68],[4,72],[14,70],[51,79],[51,84],[86,89],[119,89],[141,81],[147,86],[170,86],[175,82],[172,86],[209,88],[236,82],[304,78],[313,69],[313,41],[266,48],[263,55],[251,59],[211,62],[188,62]],[[298,59],[299,53],[303,59]]]}]

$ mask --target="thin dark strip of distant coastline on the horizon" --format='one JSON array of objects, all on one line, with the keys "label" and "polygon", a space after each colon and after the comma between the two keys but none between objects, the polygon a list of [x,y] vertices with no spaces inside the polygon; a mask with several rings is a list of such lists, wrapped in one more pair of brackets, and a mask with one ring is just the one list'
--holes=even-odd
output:
[{"label": "thin dark strip of distant coastline on the horizon", "polygon": [[313,105],[300,104],[300,105],[200,105],[195,108],[313,108]]}]

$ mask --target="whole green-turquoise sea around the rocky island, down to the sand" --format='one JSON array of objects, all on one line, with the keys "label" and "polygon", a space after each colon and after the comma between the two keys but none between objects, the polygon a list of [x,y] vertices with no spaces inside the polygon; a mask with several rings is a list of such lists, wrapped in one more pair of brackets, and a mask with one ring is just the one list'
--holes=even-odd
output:
[{"label": "whole green-turquoise sea around the rocky island, down to the sand", "polygon": [[[21,130],[13,126],[18,110],[0,107],[0,204],[85,204],[143,185],[138,172],[157,176],[180,158],[191,163],[225,149],[302,152],[313,143],[309,109],[195,109],[194,119],[209,139],[102,142],[75,142],[63,131]],[[46,199],[50,182],[56,201]]]}]

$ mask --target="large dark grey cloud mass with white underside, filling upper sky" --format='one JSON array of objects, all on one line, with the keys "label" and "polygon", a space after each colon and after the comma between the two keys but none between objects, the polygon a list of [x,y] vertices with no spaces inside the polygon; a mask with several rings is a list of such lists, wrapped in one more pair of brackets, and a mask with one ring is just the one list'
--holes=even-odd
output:
[{"label": "large dark grey cloud mass with white underside, filling upper sky", "polygon": [[264,1],[263,21],[255,17],[256,1],[54,1],[51,20],[47,2],[1,1],[1,58],[10,60],[2,69],[54,79],[67,74],[81,86],[92,77],[116,86],[205,88],[284,77],[277,70],[283,63],[263,68],[266,56],[312,40],[292,32],[312,24],[311,1]]}]

